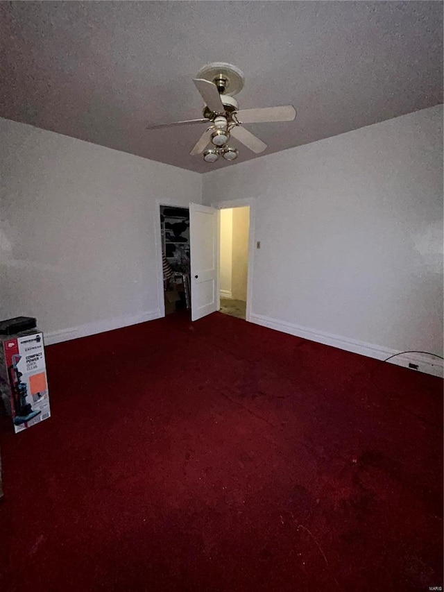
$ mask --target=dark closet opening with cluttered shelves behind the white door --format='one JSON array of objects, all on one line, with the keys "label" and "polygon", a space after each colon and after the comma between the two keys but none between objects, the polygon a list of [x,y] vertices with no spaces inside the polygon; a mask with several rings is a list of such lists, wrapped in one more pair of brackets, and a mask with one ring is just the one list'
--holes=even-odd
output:
[{"label": "dark closet opening with cluttered shelves behind the white door", "polygon": [[189,208],[160,206],[165,315],[191,316]]}]

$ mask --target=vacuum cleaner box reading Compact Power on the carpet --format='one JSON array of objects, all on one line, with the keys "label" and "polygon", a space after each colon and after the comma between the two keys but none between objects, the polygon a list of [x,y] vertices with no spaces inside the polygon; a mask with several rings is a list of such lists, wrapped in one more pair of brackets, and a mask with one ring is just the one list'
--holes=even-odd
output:
[{"label": "vacuum cleaner box reading Compact Power on the carpet", "polygon": [[0,374],[9,387],[10,412],[17,434],[51,416],[43,334],[24,331],[3,337],[2,345]]}]

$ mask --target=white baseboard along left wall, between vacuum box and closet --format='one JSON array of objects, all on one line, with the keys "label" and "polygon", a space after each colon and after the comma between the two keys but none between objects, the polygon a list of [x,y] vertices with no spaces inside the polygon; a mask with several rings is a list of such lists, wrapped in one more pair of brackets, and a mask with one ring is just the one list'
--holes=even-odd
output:
[{"label": "white baseboard along left wall, between vacuum box and closet", "polygon": [[112,331],[113,329],[137,325],[138,323],[145,323],[145,321],[153,321],[153,319],[160,319],[160,316],[160,310],[157,309],[151,312],[130,314],[128,316],[120,316],[114,319],[106,319],[105,321],[97,321],[96,323],[87,323],[85,325],[79,325],[78,327],[49,331],[44,333],[44,344],[46,346],[59,344],[62,341],[78,339],[78,337],[87,337],[88,335],[96,335],[96,333]]}]

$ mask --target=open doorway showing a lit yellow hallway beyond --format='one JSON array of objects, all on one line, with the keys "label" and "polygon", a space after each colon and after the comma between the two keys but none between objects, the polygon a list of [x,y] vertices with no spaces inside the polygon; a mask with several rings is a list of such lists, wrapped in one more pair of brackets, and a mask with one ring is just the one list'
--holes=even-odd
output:
[{"label": "open doorway showing a lit yellow hallway beyond", "polygon": [[221,209],[220,311],[246,319],[250,206]]}]

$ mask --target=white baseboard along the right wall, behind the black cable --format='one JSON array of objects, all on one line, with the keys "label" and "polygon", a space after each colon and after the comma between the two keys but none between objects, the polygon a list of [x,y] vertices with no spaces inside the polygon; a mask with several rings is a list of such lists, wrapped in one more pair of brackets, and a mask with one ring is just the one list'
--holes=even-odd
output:
[{"label": "white baseboard along the right wall, behind the black cable", "polygon": [[[251,313],[250,322],[283,333],[289,333],[289,335],[309,339],[309,341],[316,341],[318,344],[325,344],[326,346],[332,346],[352,353],[359,353],[360,355],[373,357],[375,360],[386,360],[387,357],[398,353],[397,350],[375,346],[374,344],[368,344],[365,341],[357,341],[357,339],[332,335],[331,333],[325,333],[307,327],[301,327],[300,325],[294,325],[293,323],[287,323],[286,321],[278,321],[277,319],[271,319],[271,317],[263,316],[262,314]],[[418,368],[414,369],[415,371],[443,378],[443,360],[439,360],[438,357],[419,353],[405,353],[393,357],[389,362],[406,368],[409,368],[409,364],[416,364]]]}]

